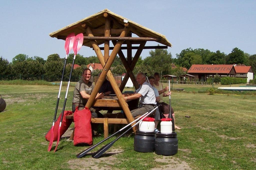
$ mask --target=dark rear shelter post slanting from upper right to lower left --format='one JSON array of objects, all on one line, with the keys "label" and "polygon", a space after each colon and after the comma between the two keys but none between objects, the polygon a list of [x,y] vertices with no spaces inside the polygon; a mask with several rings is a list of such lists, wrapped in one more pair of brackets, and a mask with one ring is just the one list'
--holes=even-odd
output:
[{"label": "dark rear shelter post slanting from upper right to lower left", "polygon": [[[145,44],[146,44],[146,41],[145,41],[145,42],[142,42],[142,43],[140,44],[139,49],[137,50],[136,54],[134,55],[133,60],[132,60],[132,63],[130,64],[131,70],[134,69],[134,67],[135,67],[135,65],[136,65],[136,62],[138,61],[138,58],[140,57],[141,52],[142,52],[142,50],[143,50]],[[128,79],[129,79],[129,74],[127,73],[127,74],[124,76],[121,85],[119,86],[120,91],[123,91],[123,90],[124,90],[125,84],[126,84],[126,82],[128,81]],[[134,84],[134,87],[135,87],[135,89],[138,89],[138,87],[136,88],[135,84]]]}]

